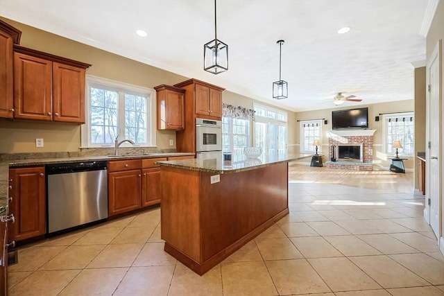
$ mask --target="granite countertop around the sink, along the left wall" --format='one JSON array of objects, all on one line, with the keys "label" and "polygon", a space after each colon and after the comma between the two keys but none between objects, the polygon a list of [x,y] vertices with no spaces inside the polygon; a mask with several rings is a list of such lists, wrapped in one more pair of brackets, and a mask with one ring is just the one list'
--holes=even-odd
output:
[{"label": "granite countertop around the sink, along the left wall", "polygon": [[[48,153],[47,155],[53,156]],[[65,154],[62,154],[65,155]],[[69,154],[67,154],[69,155]],[[66,156],[67,156],[66,155]],[[34,158],[32,155],[19,159],[3,159],[0,161],[0,216],[8,214],[8,189],[9,189],[9,168],[20,166],[44,166],[45,164],[62,164],[69,162],[88,162],[99,160],[119,160],[134,158],[157,158],[157,157],[173,157],[194,155],[194,153],[143,153],[143,154],[127,154],[127,155],[87,155],[76,157],[42,157]]]}]

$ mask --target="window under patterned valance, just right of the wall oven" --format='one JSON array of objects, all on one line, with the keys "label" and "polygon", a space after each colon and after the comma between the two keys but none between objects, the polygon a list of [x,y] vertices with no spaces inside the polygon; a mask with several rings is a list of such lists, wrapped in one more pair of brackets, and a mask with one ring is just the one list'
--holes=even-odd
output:
[{"label": "window under patterned valance, just right of the wall oven", "polygon": [[250,146],[250,120],[222,117],[222,150],[243,155]]}]

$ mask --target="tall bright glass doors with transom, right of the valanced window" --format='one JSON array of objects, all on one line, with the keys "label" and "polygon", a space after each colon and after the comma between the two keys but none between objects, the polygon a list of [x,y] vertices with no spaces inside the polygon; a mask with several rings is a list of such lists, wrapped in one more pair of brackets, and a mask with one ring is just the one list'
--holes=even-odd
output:
[{"label": "tall bright glass doors with transom, right of the valanced window", "polygon": [[255,110],[254,143],[263,153],[287,153],[287,112],[262,105],[253,105]]}]

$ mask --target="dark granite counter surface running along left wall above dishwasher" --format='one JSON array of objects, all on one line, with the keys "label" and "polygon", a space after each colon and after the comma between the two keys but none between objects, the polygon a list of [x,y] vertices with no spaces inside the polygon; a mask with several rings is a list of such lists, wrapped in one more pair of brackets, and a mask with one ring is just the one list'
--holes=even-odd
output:
[{"label": "dark granite counter surface running along left wall above dishwasher", "polygon": [[[114,149],[112,149],[114,150]],[[111,151],[111,150],[110,150]],[[0,216],[8,214],[9,168],[20,166],[44,166],[45,164],[62,164],[69,162],[87,162],[94,160],[119,160],[134,158],[156,158],[194,155],[194,153],[162,153],[132,151],[126,155],[94,155],[103,150],[92,149],[83,153],[21,153],[1,155],[0,157]],[[110,153],[111,154],[111,153]]]}]

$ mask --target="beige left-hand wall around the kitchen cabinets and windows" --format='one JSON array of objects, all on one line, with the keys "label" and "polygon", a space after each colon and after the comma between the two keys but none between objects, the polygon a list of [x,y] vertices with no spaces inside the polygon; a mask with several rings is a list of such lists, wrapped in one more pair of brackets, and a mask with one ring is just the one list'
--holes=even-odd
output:
[{"label": "beige left-hand wall around the kitchen cabinets and windows", "polygon": [[[149,88],[161,84],[173,85],[188,79],[10,19],[1,19],[22,31],[20,45],[92,64],[87,70],[90,75]],[[223,101],[231,105],[252,107],[255,100],[225,91]],[[294,113],[289,112],[289,118],[293,116]],[[157,131],[156,134],[158,148],[176,148],[176,145],[169,146],[169,139],[174,139],[176,144],[176,132]],[[289,141],[293,141],[293,134],[289,128]],[[43,148],[35,147],[36,138],[44,139]],[[79,125],[0,119],[0,153],[77,151],[79,147]]]}]

